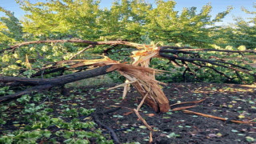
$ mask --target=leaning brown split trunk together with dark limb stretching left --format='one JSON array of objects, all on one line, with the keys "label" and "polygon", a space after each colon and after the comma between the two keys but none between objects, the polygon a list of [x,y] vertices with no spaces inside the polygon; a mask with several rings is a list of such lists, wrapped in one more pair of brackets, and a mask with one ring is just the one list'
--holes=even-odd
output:
[{"label": "leaning brown split trunk together with dark limb stretching left", "polygon": [[[91,62],[89,63],[91,64]],[[98,64],[99,63],[97,62],[95,63],[95,65]],[[114,70],[118,70],[120,74],[124,75],[129,80],[131,80],[131,78],[138,79],[137,82],[133,83],[134,87],[138,90],[139,94],[142,95],[142,98],[146,95],[149,95],[145,99],[145,102],[147,105],[152,107],[155,112],[167,112],[170,110],[169,101],[166,98],[166,95],[162,92],[160,86],[158,86],[158,81],[148,76],[148,74],[154,74],[154,69],[119,63],[111,63],[110,65],[106,65],[105,63],[101,62],[100,65],[103,66],[94,70],[86,70],[74,74],[67,74],[57,78],[0,77],[0,82],[15,82],[26,86],[33,86],[16,94],[0,97],[0,102],[4,102],[13,98],[19,98],[24,94],[31,94],[33,92],[47,90],[54,86],[62,86],[66,83],[75,82],[85,78],[92,78],[98,75],[107,74]]]}]

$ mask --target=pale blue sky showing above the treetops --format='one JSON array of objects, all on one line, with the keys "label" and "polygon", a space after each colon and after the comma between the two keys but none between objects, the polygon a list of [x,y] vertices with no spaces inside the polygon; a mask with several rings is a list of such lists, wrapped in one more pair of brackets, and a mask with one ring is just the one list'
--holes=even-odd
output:
[{"label": "pale blue sky showing above the treetops", "polygon": [[[46,2],[46,0],[30,0],[30,2]],[[102,0],[100,6],[109,8],[111,6],[112,0]],[[154,4],[154,0],[146,0],[146,2],[150,2]],[[213,6],[212,12],[210,13],[213,18],[219,12],[226,10],[227,6],[233,6],[234,10],[230,12],[226,18],[223,19],[223,22],[219,23],[219,25],[228,25],[231,22],[234,22],[234,18],[242,17],[242,18],[250,18],[253,17],[251,14],[245,14],[241,7],[245,7],[247,10],[256,11],[254,3],[256,4],[256,0],[176,0],[177,5],[175,6],[175,10],[181,11],[183,7],[192,7],[195,6],[198,8],[198,12],[202,9],[202,6],[206,5],[208,2]],[[25,14],[22,11],[15,0],[0,0],[0,6],[5,8],[6,10],[10,10],[14,12],[14,15],[17,18],[22,18]],[[0,17],[3,16],[0,12]]]}]

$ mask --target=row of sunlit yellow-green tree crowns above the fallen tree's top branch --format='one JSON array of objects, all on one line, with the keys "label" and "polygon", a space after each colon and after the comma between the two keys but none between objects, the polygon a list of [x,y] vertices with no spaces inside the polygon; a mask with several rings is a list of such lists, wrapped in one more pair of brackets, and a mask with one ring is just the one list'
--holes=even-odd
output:
[{"label": "row of sunlit yellow-green tree crowns above the fallen tree's top branch", "polygon": [[99,1],[94,0],[18,2],[23,10],[30,12],[22,21],[24,30],[37,36],[139,42],[143,35],[149,35],[152,41],[191,46],[209,46],[213,42],[210,33],[214,23],[221,22],[232,10],[228,7],[211,20],[210,4],[199,13],[196,7],[190,7],[179,14],[174,10],[176,2],[162,0],[156,1],[155,8],[144,1],[116,0],[110,10],[100,9]]}]

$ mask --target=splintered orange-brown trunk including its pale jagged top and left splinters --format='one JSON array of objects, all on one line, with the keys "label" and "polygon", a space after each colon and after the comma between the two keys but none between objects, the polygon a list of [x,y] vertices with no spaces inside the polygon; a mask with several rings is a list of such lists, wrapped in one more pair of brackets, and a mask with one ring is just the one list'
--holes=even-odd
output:
[{"label": "splintered orange-brown trunk including its pale jagged top and left splinters", "polygon": [[73,66],[112,65],[109,69],[107,69],[107,72],[117,70],[119,74],[122,74],[126,78],[126,82],[121,85],[114,86],[109,90],[124,86],[122,94],[122,98],[124,99],[130,90],[130,85],[133,85],[135,89],[138,90],[138,93],[142,95],[142,103],[146,102],[146,104],[151,106],[156,112],[167,112],[170,110],[169,100],[166,98],[166,95],[158,85],[165,85],[165,83],[155,80],[155,74],[164,70],[155,70],[149,67],[150,58],[159,57],[159,48],[154,45],[135,45],[135,43],[132,43],[131,45],[137,47],[138,49],[137,51],[133,51],[133,55],[130,56],[134,59],[132,64],[119,63],[106,56],[102,56],[102,59],[93,60],[68,60],[58,62],[58,64],[78,62]]}]

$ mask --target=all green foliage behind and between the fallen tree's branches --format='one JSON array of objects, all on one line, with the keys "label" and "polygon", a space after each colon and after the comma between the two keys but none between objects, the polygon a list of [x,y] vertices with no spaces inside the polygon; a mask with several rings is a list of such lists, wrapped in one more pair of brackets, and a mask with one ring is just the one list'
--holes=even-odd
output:
[{"label": "all green foliage behind and between the fallen tree's branches", "polygon": [[[250,24],[237,19],[233,27],[215,25],[216,22],[222,22],[222,19],[233,9],[232,7],[227,7],[225,11],[213,17],[210,15],[212,10],[210,3],[202,6],[201,10],[192,6],[178,11],[175,9],[176,2],[171,0],[156,0],[156,6],[141,0],[115,0],[110,9],[101,9],[98,0],[54,0],[35,3],[17,0],[17,2],[22,10],[27,12],[22,20],[18,20],[10,11],[0,7],[0,11],[6,14],[6,17],[0,18],[0,50],[14,42],[70,38],[92,41],[125,39],[146,44],[163,42],[170,46],[207,48],[222,46],[227,50],[244,50],[245,47],[254,49],[256,46],[254,17],[251,18]],[[243,10],[248,14],[255,14]],[[2,53],[0,74],[30,78],[46,63],[68,60],[86,46],[73,43],[21,46],[13,53]],[[133,50],[129,46],[96,46],[78,55],[77,59],[99,58],[98,54],[107,51],[106,54],[114,60],[130,62],[129,56]],[[222,53],[202,53],[202,55],[203,58],[208,59],[210,56],[221,57]],[[230,55],[229,58],[236,56],[238,55]],[[178,68],[164,59],[156,58],[151,61],[151,66],[172,71],[169,74],[158,75],[158,79],[164,82],[184,81],[182,75],[184,67]],[[186,73],[187,82],[226,82],[226,78],[207,67],[203,70],[198,70],[197,66],[193,65],[190,67],[195,74]],[[230,77],[234,75],[230,70],[214,68],[222,70]],[[70,73],[66,70],[63,74]],[[44,78],[52,76],[54,74],[43,75]],[[115,73],[108,76],[113,78],[114,82],[123,82],[125,79]],[[241,80],[235,78],[232,82],[241,82]],[[8,94],[4,90],[0,90],[1,93]],[[25,99],[20,101],[26,102]]]}]

